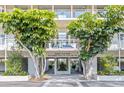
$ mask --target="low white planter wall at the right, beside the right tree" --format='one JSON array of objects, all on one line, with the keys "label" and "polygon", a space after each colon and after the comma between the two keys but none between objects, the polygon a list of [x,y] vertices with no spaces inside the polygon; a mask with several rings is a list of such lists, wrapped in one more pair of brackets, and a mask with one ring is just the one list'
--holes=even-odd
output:
[{"label": "low white planter wall at the right, beside the right tree", "polygon": [[97,76],[98,81],[124,81],[124,76]]}]

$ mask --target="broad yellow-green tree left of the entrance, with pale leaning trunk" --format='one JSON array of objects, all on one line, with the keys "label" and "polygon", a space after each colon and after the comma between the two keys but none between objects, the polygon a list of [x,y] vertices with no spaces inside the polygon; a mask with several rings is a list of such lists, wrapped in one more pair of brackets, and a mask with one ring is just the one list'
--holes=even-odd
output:
[{"label": "broad yellow-green tree left of the entrance, with pale leaning trunk", "polygon": [[54,17],[54,12],[38,9],[14,9],[13,12],[0,13],[0,22],[5,33],[14,34],[16,41],[29,52],[36,77],[39,77],[38,59],[45,56],[46,42],[56,35]]}]

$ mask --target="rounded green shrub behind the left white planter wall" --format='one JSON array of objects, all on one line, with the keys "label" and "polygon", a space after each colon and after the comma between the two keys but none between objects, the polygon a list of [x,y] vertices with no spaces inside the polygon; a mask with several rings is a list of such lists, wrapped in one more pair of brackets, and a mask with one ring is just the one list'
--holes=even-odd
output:
[{"label": "rounded green shrub behind the left white planter wall", "polygon": [[7,71],[3,75],[27,75],[23,70],[23,57],[19,52],[13,52],[6,61]]}]

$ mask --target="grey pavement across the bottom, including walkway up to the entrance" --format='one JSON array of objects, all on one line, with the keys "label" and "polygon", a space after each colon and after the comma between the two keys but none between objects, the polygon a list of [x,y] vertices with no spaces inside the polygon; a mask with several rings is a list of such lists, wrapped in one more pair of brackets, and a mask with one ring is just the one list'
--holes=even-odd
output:
[{"label": "grey pavement across the bottom, including walkway up to the entrance", "polygon": [[42,82],[0,82],[0,87],[124,87],[124,81],[86,81],[82,80],[81,75],[61,75],[49,76],[49,80]]}]

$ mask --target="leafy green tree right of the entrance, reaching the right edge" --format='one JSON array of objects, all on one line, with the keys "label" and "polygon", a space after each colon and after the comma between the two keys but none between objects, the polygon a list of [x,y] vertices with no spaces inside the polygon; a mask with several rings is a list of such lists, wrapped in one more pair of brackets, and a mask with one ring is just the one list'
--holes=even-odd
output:
[{"label": "leafy green tree right of the entrance, reaching the right edge", "polygon": [[86,78],[90,76],[89,61],[107,50],[114,34],[124,31],[124,6],[108,6],[105,10],[102,15],[82,14],[67,27],[69,34],[80,40],[80,60],[85,65]]}]

